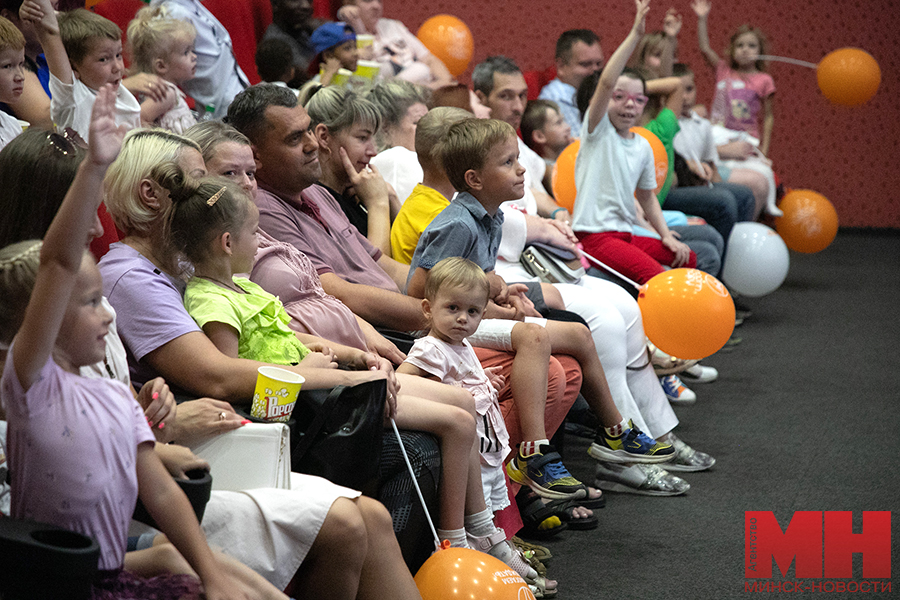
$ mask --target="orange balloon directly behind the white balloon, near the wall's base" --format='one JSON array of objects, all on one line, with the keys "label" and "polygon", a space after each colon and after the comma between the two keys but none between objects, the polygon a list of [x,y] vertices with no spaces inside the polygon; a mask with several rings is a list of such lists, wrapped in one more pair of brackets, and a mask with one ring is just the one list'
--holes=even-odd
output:
[{"label": "orange balloon directly behind the white balloon, near the wall's base", "polygon": [[783,217],[775,230],[788,248],[814,254],[824,250],[837,235],[837,211],[825,196],[812,190],[791,190],[778,204]]}]

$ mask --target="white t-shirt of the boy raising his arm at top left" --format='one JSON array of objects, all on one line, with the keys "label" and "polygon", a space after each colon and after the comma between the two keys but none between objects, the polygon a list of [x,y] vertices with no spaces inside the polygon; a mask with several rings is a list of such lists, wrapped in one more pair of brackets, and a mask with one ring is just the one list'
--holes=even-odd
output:
[{"label": "white t-shirt of the boy raising his arm at top left", "polygon": [[[97,92],[81,83],[73,75],[74,83],[63,83],[50,73],[50,117],[60,131],[66,127],[74,129],[84,141],[89,142],[88,131],[91,126],[91,110]],[[128,129],[141,126],[141,105],[124,85],[119,85],[116,92],[116,125],[125,125]]]}]

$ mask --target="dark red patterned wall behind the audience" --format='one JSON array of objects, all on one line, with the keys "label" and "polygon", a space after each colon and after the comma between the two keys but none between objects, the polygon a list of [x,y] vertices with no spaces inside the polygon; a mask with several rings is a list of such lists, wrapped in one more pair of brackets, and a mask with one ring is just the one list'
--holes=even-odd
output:
[{"label": "dark red patterned wall behind the audience", "polygon": [[[400,19],[414,33],[428,17],[461,18],[475,38],[473,63],[489,54],[508,54],[523,69],[543,69],[553,61],[556,38],[565,29],[590,28],[609,54],[627,34],[633,3],[611,0],[385,0],[385,16]],[[656,29],[670,3],[650,11]],[[699,99],[712,98],[712,73],[697,50],[696,18],[687,0],[675,6],[684,15],[679,58],[698,74]],[[900,1],[894,0],[716,0],[710,39],[721,54],[731,31],[742,23],[763,29],[770,52],[818,62],[831,50],[863,48],[881,66],[878,94],[859,108],[832,106],[819,92],[815,71],[773,63],[778,88],[771,157],[784,183],[824,194],[842,226],[900,228]],[[468,79],[469,71],[463,75]]]}]

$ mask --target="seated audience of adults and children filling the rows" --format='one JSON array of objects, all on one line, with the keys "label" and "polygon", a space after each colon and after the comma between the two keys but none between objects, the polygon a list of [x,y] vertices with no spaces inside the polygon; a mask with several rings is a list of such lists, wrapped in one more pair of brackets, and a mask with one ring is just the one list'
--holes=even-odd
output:
[{"label": "seated audience of adults and children filling the rows", "polygon": [[[694,111],[690,67],[673,72],[680,16],[645,35],[649,0],[637,0],[605,65],[596,33],[563,32],[556,78],[530,103],[513,59],[489,56],[469,89],[383,17],[382,0],[345,0],[331,23],[308,0],[271,3],[256,52],[266,82],[250,86],[200,0],[141,9],[127,71],[112,21],[0,0],[0,442],[12,482],[0,482],[0,511],[98,539],[96,597],[132,586],[172,598],[417,598],[396,515],[378,500],[302,476],[290,490],[214,492],[198,526],[171,484],[208,468],[184,446],[247,423],[236,407],[249,405],[261,366],[302,375],[306,390],[385,380],[385,417],[437,438],[440,537],[553,597],[557,582],[514,535],[596,527],[601,490],[685,493],[673,473],[715,459],[674,433],[672,404],[696,399],[679,373],[717,373],[649,345],[621,282],[547,283],[523,253],[583,249],[639,283],[668,267],[717,274],[734,223],[777,214],[760,154],[774,89],[755,60],[764,38],[739,30],[724,65],[709,50],[709,3],[693,4],[717,75],[766,83],[762,129],[743,124],[762,132],[744,168],[744,138],[719,143]],[[334,78],[358,59],[379,63],[374,85]],[[720,112],[717,123],[737,127]],[[668,152],[659,193],[649,143],[630,131],[639,124]],[[570,213],[550,174],[573,136]],[[119,239],[95,263],[85,248],[106,211]],[[597,461],[588,484],[550,442],[580,392]],[[112,408],[90,427],[66,412],[94,414],[95,396]],[[38,423],[44,397],[62,408]],[[71,476],[52,493],[65,510],[34,476],[64,453],[30,437],[70,419],[80,438],[124,432],[88,435],[65,456],[88,473],[77,487],[88,495],[98,457],[124,457],[102,474],[121,483],[93,486],[97,501],[74,511]],[[26,440],[46,452],[30,456]],[[130,508],[107,507],[138,494],[166,535],[126,540]]]}]

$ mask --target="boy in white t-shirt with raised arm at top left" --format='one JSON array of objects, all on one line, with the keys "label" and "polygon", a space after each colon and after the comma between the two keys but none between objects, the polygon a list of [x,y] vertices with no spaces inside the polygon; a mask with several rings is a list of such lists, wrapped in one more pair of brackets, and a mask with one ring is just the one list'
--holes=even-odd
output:
[{"label": "boy in white t-shirt with raised arm at top left", "polygon": [[50,116],[57,129],[71,127],[89,141],[91,109],[97,90],[106,84],[116,88],[116,124],[141,126],[141,105],[121,85],[122,31],[115,23],[82,8],[57,17],[50,0],[26,0],[19,15],[34,22],[44,48],[50,67]]}]

